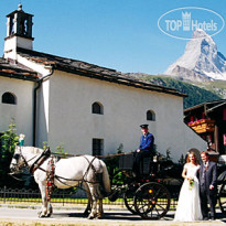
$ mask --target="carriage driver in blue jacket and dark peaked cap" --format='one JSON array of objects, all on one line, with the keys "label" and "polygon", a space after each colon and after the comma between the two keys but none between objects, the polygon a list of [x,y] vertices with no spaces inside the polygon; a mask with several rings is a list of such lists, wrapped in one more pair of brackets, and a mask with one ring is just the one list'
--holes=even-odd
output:
[{"label": "carriage driver in blue jacket and dark peaked cap", "polygon": [[140,172],[140,162],[146,157],[153,158],[153,144],[154,144],[154,137],[152,133],[149,132],[149,125],[140,125],[142,136],[140,138],[140,146],[139,149],[134,151],[134,161],[133,161],[133,172],[136,176],[140,176],[142,172]]}]

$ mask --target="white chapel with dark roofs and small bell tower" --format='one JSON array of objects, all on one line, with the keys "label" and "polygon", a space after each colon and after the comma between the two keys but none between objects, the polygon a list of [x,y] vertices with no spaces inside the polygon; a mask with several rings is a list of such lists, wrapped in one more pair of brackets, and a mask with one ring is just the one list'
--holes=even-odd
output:
[{"label": "white chapel with dark roofs and small bell tower", "polygon": [[0,131],[13,120],[25,146],[72,154],[116,153],[138,148],[148,123],[157,151],[174,161],[206,143],[183,122],[184,94],[125,76],[111,68],[33,50],[33,15],[22,6],[7,15],[0,58]]}]

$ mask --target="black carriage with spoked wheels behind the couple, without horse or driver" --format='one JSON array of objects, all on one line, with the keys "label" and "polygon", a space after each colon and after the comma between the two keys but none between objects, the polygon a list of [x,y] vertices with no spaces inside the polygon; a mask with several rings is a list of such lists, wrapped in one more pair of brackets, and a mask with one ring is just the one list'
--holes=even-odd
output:
[{"label": "black carriage with spoked wheels behind the couple, without horse or driver", "polygon": [[[152,161],[144,158],[140,163],[141,176],[136,177],[132,172],[133,155],[119,157],[119,169],[127,180],[121,186],[112,187],[110,201],[116,201],[119,194],[123,194],[125,205],[132,214],[138,214],[146,219],[159,219],[164,217],[171,207],[172,201],[176,201],[182,185],[183,166],[171,161]],[[226,214],[226,171],[219,168],[218,176],[218,206]]]}]

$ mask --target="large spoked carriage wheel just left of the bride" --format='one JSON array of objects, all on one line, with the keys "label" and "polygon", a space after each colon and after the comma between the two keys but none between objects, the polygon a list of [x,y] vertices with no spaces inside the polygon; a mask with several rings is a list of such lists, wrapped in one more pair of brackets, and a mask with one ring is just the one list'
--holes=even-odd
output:
[{"label": "large spoked carriage wheel just left of the bride", "polygon": [[159,219],[170,208],[170,193],[160,183],[146,183],[136,192],[134,207],[142,218]]}]

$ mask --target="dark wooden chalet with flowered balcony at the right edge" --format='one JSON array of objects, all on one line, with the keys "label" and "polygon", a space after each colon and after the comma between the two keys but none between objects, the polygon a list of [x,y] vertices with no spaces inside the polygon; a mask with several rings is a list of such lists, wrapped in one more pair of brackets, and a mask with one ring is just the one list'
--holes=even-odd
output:
[{"label": "dark wooden chalet with flowered balcony at the right edge", "polygon": [[184,122],[207,141],[211,151],[226,154],[226,99],[187,108]]}]

